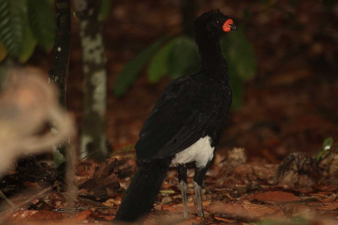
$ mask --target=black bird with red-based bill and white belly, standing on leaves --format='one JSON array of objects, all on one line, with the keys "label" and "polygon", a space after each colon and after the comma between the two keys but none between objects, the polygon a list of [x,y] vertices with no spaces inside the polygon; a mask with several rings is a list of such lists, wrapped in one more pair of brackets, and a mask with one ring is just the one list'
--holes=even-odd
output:
[{"label": "black bird with red-based bill and white belly, standing on leaves", "polygon": [[177,165],[184,218],[188,218],[186,164],[195,162],[198,216],[204,216],[201,187],[232,101],[219,41],[223,32],[237,27],[217,10],[199,16],[194,28],[202,69],[169,83],[145,121],[135,145],[140,167],[115,221],[145,219],[171,163]]}]

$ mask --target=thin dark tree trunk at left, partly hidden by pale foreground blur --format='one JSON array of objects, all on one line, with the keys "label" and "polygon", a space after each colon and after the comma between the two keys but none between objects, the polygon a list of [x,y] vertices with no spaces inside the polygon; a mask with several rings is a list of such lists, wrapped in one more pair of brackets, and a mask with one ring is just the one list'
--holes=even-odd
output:
[{"label": "thin dark tree trunk at left, partly hidden by pale foreground blur", "polygon": [[[49,71],[49,82],[55,83],[59,90],[60,105],[66,110],[66,86],[69,69],[71,11],[70,0],[55,0],[56,39],[53,50],[53,65]],[[57,133],[55,124],[52,134]],[[67,158],[68,144],[53,145],[54,166],[58,167]]]}]

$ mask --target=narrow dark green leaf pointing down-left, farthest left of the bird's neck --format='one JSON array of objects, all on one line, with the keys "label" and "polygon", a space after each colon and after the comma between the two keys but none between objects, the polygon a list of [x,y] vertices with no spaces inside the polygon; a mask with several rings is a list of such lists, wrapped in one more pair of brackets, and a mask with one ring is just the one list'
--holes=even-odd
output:
[{"label": "narrow dark green leaf pointing down-left, farthest left of the bird's neck", "polygon": [[135,81],[146,62],[155,54],[165,40],[166,39],[160,39],[156,41],[128,62],[117,77],[114,87],[114,93],[116,96],[119,97],[127,92],[128,88]]}]

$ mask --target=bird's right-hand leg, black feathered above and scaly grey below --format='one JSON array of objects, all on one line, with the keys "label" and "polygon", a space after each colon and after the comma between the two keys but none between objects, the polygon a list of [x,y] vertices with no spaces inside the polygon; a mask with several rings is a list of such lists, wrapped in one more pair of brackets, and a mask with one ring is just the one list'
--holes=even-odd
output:
[{"label": "bird's right-hand leg, black feathered above and scaly grey below", "polygon": [[195,175],[194,175],[194,190],[197,200],[197,210],[198,216],[202,216],[204,218],[203,213],[203,205],[202,205],[202,196],[201,196],[201,188],[203,185],[204,176],[208,171],[209,164],[204,168],[195,167]]}]

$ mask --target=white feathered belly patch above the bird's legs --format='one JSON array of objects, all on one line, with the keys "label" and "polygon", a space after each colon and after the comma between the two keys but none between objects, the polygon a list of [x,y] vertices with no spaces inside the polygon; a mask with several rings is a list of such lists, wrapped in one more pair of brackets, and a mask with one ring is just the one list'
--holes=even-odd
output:
[{"label": "white feathered belly patch above the bird's legs", "polygon": [[200,138],[190,147],[178,152],[172,164],[185,164],[195,161],[196,167],[206,167],[207,163],[214,157],[215,147],[211,147],[211,139],[209,136]]}]

